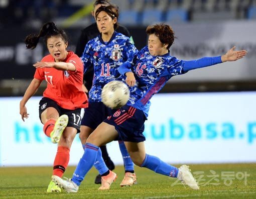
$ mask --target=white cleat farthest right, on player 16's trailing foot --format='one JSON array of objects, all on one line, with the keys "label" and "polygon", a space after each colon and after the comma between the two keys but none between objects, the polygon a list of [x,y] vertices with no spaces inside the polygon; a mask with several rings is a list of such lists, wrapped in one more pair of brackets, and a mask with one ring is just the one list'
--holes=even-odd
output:
[{"label": "white cleat farthest right, on player 16's trailing foot", "polygon": [[182,165],[179,167],[178,179],[190,186],[193,189],[199,189],[199,186],[190,172],[189,166]]}]

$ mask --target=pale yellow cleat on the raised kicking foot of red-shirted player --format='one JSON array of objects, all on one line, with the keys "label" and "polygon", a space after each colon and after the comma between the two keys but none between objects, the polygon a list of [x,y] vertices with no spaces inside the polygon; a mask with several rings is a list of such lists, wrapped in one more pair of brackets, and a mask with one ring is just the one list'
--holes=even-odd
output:
[{"label": "pale yellow cleat on the raised kicking foot of red-shirted player", "polygon": [[50,134],[51,140],[53,143],[58,143],[60,141],[62,132],[66,128],[67,124],[68,124],[68,115],[63,114],[57,119],[53,128],[53,131]]}]

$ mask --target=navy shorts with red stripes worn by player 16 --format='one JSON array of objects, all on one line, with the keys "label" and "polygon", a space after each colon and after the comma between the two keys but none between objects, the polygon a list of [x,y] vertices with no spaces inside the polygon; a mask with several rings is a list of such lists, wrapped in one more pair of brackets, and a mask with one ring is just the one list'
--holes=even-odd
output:
[{"label": "navy shorts with red stripes worn by player 16", "polygon": [[115,127],[118,132],[116,140],[141,142],[146,140],[143,135],[146,119],[147,117],[142,110],[124,105],[108,116],[104,122]]}]

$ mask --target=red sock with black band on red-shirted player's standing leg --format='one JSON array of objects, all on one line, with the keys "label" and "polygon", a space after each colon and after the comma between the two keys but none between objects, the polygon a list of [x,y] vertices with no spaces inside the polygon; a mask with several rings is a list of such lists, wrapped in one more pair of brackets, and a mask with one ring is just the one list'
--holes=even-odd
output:
[{"label": "red sock with black band on red-shirted player's standing leg", "polygon": [[53,175],[62,177],[69,162],[69,148],[58,146],[57,153],[53,163]]}]

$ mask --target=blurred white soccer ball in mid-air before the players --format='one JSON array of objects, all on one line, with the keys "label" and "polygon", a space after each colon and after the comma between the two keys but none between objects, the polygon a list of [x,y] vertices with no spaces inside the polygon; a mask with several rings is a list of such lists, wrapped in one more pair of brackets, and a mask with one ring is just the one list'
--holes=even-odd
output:
[{"label": "blurred white soccer ball in mid-air before the players", "polygon": [[112,109],[125,105],[130,97],[129,87],[122,81],[113,80],[104,85],[101,92],[102,102]]}]

